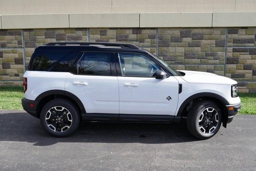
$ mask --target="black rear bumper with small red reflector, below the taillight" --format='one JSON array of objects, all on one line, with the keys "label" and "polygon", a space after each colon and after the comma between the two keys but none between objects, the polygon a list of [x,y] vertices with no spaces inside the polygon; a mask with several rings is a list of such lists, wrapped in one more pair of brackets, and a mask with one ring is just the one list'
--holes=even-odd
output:
[{"label": "black rear bumper with small red reflector, below the taillight", "polygon": [[28,100],[25,97],[21,99],[23,109],[28,112],[30,115],[40,118],[40,114],[36,113],[36,107],[38,105],[38,101]]}]

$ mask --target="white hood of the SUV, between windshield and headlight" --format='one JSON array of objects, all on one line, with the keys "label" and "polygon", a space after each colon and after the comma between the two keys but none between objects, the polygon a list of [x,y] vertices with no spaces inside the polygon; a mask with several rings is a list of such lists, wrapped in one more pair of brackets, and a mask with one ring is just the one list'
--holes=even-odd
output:
[{"label": "white hood of the SUV, between windshield and headlight", "polygon": [[237,84],[235,80],[224,76],[218,76],[216,74],[208,73],[208,72],[198,72],[198,71],[181,71],[184,72],[185,76],[182,76],[183,80],[188,83],[201,83],[201,84],[226,84],[233,85]]}]

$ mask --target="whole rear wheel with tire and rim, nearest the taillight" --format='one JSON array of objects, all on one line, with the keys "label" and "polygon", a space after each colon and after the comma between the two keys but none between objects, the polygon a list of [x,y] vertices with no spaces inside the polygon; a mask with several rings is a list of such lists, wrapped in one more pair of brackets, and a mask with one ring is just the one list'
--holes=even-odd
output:
[{"label": "whole rear wheel with tire and rim, nearest the taillight", "polygon": [[42,128],[54,137],[67,137],[80,123],[78,108],[66,99],[54,99],[44,105],[40,114]]}]

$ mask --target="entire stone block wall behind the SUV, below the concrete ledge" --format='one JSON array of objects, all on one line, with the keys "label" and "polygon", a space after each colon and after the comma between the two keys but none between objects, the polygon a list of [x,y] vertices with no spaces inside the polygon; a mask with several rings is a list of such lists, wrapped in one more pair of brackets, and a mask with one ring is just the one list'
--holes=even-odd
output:
[{"label": "entire stone block wall behind the SUV, below the concrete ledge", "polygon": [[256,92],[256,28],[56,28],[0,30],[0,85],[21,85],[34,48],[49,42],[120,42],[177,70],[211,72]]}]

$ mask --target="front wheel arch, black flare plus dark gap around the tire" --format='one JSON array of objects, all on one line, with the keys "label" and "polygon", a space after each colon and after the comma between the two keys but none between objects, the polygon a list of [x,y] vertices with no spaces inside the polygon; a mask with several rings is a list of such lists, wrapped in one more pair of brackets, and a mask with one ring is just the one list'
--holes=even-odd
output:
[{"label": "front wheel arch, black flare plus dark gap around the tire", "polygon": [[183,103],[180,105],[180,108],[178,109],[178,113],[176,115],[177,119],[180,119],[183,116],[186,116],[188,110],[187,107],[190,105],[190,103],[193,103],[194,101],[198,100],[211,100],[219,105],[221,108],[223,115],[222,115],[222,122],[223,126],[226,127],[227,120],[228,120],[228,110],[226,108],[226,105],[229,105],[228,101],[222,97],[221,95],[218,95],[216,93],[196,93],[194,95],[191,95],[188,97]]}]

